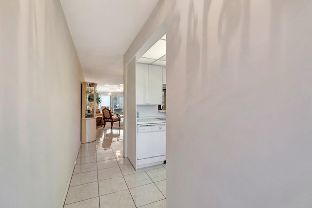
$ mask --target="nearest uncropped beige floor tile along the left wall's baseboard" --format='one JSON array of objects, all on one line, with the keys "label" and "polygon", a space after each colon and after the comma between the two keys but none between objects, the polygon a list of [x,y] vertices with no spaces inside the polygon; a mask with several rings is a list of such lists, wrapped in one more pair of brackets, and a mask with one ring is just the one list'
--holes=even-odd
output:
[{"label": "nearest uncropped beige floor tile along the left wall's baseboard", "polygon": [[98,182],[69,187],[65,205],[98,196]]}]

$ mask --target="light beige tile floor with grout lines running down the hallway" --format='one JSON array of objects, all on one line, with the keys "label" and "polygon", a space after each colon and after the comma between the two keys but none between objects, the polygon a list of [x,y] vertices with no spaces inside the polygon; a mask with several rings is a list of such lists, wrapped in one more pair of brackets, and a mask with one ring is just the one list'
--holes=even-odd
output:
[{"label": "light beige tile floor with grout lines running down the hallway", "polygon": [[166,164],[135,170],[123,129],[97,130],[81,144],[64,208],[166,208]]}]

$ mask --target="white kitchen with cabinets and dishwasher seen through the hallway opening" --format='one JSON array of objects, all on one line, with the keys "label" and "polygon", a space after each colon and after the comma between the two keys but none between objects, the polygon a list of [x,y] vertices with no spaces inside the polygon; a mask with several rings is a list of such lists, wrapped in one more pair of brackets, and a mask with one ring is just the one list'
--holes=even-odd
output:
[{"label": "white kitchen with cabinets and dishwasher seen through the hallway opening", "polygon": [[135,80],[136,132],[125,156],[137,170],[166,163],[166,34],[137,59]]}]

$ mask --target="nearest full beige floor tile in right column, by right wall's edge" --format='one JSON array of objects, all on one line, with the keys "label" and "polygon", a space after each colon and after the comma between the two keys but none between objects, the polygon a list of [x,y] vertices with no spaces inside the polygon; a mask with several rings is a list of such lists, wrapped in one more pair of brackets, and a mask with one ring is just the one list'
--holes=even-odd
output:
[{"label": "nearest full beige floor tile in right column, by right wall's edge", "polygon": [[158,190],[155,184],[147,184],[144,186],[130,189],[130,193],[137,207],[147,205],[165,197]]}]

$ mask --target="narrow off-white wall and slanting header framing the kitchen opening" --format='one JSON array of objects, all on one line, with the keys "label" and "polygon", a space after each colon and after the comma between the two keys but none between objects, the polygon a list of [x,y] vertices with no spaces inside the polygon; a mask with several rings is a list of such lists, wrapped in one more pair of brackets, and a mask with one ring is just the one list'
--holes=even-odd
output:
[{"label": "narrow off-white wall and slanting header framing the kitchen opening", "polygon": [[[128,139],[133,139],[136,136],[133,130],[131,130],[133,124],[136,124],[136,91],[133,91],[135,84],[135,77],[133,78],[133,72],[127,72],[128,68],[133,70],[133,59],[141,57],[154,43],[166,33],[166,15],[167,10],[170,7],[170,0],[160,0],[156,5],[156,8],[152,12],[149,19],[146,21],[141,31],[132,42],[127,52],[124,54],[124,154],[127,156],[128,149],[131,151],[131,147],[128,147]],[[156,33],[155,33],[156,31]],[[128,67],[129,66],[129,67]],[[130,103],[129,103],[130,102]]]}]

